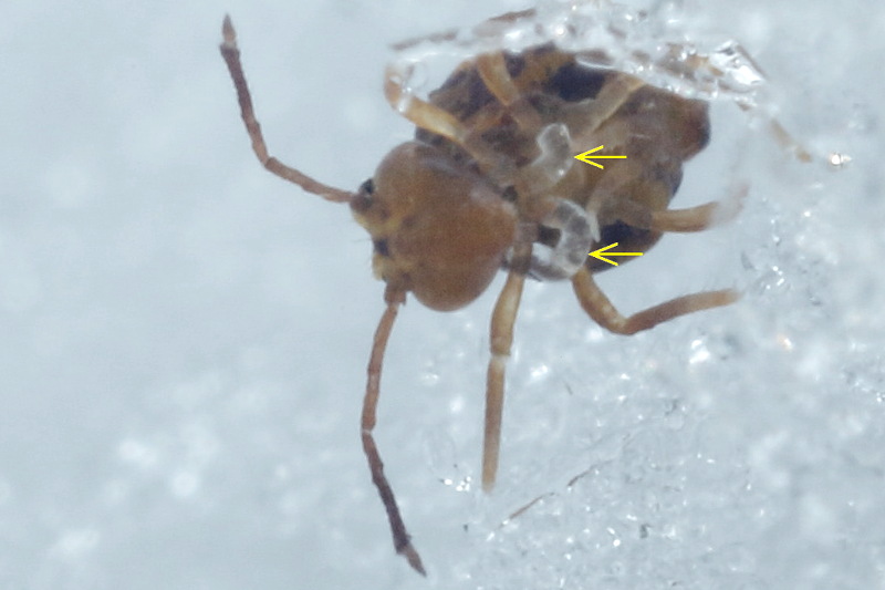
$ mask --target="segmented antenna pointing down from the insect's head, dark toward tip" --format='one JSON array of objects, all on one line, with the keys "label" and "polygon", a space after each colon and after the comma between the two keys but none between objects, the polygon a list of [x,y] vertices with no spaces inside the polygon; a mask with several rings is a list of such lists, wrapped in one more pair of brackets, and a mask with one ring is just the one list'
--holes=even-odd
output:
[{"label": "segmented antenna pointing down from the insect's head, dark toward tip", "polygon": [[421,558],[412,545],[406,525],[403,522],[403,517],[396,505],[396,497],[394,497],[394,490],[391,488],[389,482],[387,482],[387,476],[384,475],[384,463],[382,463],[378,447],[375,445],[375,437],[372,436],[372,431],[375,428],[378,394],[381,391],[381,370],[384,362],[384,350],[387,348],[387,339],[391,337],[391,330],[394,327],[394,320],[396,319],[399,306],[405,301],[405,293],[388,288],[387,292],[385,292],[385,300],[387,301],[387,309],[384,311],[384,315],[382,315],[381,322],[378,322],[378,329],[375,331],[372,355],[368,360],[368,382],[366,383],[366,395],[363,400],[363,415],[360,421],[363,451],[368,459],[372,482],[375,484],[375,487],[378,488],[378,495],[381,496],[382,503],[384,503],[385,510],[387,510],[387,520],[391,522],[391,531],[393,532],[396,552],[404,556],[415,571],[421,576],[427,576],[424,570],[424,565],[421,565]]}]

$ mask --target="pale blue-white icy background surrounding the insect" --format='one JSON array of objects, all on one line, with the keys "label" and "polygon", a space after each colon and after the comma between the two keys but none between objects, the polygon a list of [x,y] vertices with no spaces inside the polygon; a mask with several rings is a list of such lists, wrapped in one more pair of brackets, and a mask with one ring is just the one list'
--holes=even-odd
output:
[{"label": "pale blue-white icy background surrounding the insect", "polygon": [[0,588],[885,588],[885,10],[685,6],[756,55],[819,159],[730,141],[747,120],[717,106],[677,203],[746,182],[743,215],[600,279],[627,312],[736,286],[731,308],[620,338],[566,284],[529,287],[490,497],[500,281],[457,313],[405,308],[376,432],[425,580],[360,447],[371,242],[257,164],[219,28],[229,11],[272,152],[352,188],[410,134],[386,45],[523,4],[7,2]]}]

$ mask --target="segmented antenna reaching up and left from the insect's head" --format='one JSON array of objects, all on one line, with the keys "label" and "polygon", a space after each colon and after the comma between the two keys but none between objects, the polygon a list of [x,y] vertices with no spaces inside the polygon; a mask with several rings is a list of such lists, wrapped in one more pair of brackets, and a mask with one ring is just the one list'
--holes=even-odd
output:
[{"label": "segmented antenna reaching up and left from the insect's head", "polygon": [[252,139],[252,149],[258,156],[258,159],[261,161],[261,164],[280,178],[299,185],[308,193],[320,195],[324,199],[334,203],[350,201],[351,193],[314,180],[310,176],[305,176],[268,154],[268,146],[264,144],[261,125],[256,118],[252,97],[249,93],[249,86],[246,83],[242,63],[240,63],[240,50],[237,48],[237,33],[233,30],[233,25],[230,23],[230,17],[225,17],[225,22],[221,25],[221,34],[223,37],[223,41],[219,48],[221,50],[221,56],[225,58],[225,63],[228,64],[228,70],[230,71],[230,77],[233,79],[233,86],[237,89],[237,99],[240,103],[240,115],[242,116],[243,123],[246,123],[246,131],[249,132],[249,138]]}]

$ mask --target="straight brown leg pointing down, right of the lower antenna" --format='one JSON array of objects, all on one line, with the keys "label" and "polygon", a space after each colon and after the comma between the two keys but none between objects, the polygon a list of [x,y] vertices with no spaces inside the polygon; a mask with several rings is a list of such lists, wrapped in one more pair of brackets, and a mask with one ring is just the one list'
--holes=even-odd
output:
[{"label": "straight brown leg pointing down, right of the lower antenna", "polygon": [[491,317],[491,359],[486,382],[486,428],[482,442],[482,489],[487,493],[494,487],[498,474],[501,413],[504,405],[504,370],[510,358],[510,346],[513,344],[513,325],[522,298],[522,286],[525,282],[532,245],[528,240],[518,240],[513,250],[513,262]]}]

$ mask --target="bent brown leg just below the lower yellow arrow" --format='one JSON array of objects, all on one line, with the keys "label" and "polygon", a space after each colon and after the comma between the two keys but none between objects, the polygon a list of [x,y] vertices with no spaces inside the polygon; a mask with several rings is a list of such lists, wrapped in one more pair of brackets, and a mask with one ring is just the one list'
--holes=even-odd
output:
[{"label": "bent brown leg just below the lower yellow arrow", "polygon": [[733,289],[719,291],[701,291],[676,299],[670,299],[653,308],[648,308],[629,317],[618,312],[602,289],[596,286],[593,276],[586,267],[572,277],[572,287],[584,311],[593,321],[616,334],[635,334],[655,325],[710,308],[718,308],[733,303],[739,299],[739,293]]}]

